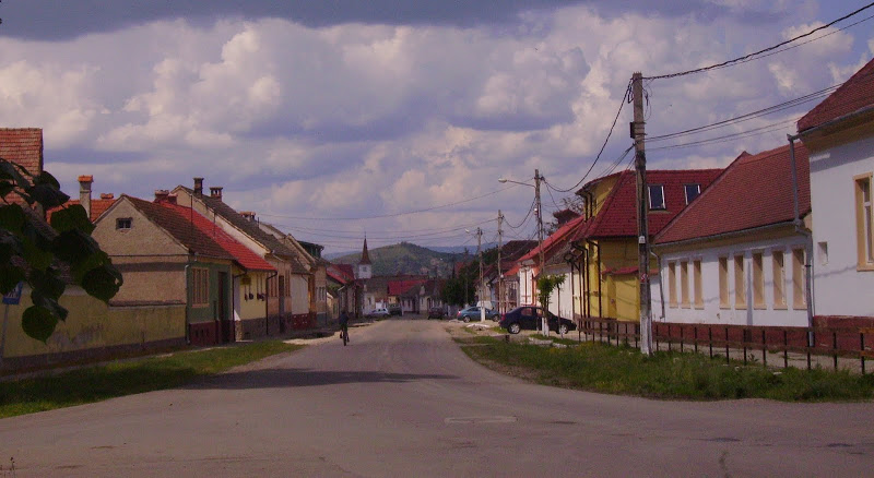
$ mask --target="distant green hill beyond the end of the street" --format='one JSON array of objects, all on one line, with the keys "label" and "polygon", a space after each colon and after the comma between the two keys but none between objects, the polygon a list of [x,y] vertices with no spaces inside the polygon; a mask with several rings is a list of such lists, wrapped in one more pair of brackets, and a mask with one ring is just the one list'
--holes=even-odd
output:
[{"label": "distant green hill beyond the end of the street", "polygon": [[[452,264],[462,260],[463,253],[437,252],[410,242],[369,249],[370,262],[374,263],[374,275],[415,274],[437,277],[449,277]],[[463,252],[463,248],[462,248]],[[476,248],[471,251],[473,255]],[[361,252],[331,259],[336,264],[357,264]]]}]

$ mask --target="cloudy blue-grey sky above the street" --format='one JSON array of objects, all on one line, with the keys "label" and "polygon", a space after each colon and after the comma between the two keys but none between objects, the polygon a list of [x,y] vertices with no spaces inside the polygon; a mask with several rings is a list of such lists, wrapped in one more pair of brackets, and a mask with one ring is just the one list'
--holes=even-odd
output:
[{"label": "cloudy blue-grey sky above the street", "polygon": [[[95,195],[143,199],[204,177],[326,252],[361,250],[365,235],[371,248],[475,250],[477,228],[497,240],[499,210],[504,241],[536,237],[534,189],[499,178],[531,184],[538,169],[548,220],[579,186],[629,166],[634,72],[721,63],[867,3],[7,0],[0,126],[43,128],[45,168],[73,198],[80,175]],[[872,15],[645,81],[648,168],[784,145],[822,97],[654,136],[840,84],[874,56]]]}]

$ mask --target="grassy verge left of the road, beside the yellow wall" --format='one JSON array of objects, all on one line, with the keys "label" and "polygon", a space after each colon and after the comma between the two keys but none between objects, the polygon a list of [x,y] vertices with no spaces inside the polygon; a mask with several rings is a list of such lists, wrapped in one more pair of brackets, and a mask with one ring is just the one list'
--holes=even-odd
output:
[{"label": "grassy verge left of the road, beside the yellow wall", "polygon": [[302,347],[281,340],[255,342],[0,382],[0,418],[172,389],[198,377]]}]

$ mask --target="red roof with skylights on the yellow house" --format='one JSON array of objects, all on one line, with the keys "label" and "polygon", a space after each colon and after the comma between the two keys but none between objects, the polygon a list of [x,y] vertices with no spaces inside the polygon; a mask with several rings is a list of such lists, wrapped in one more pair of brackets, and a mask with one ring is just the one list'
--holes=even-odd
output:
[{"label": "red roof with skylights on the yellow house", "polygon": [[[664,210],[650,210],[647,214],[649,234],[657,235],[662,228],[686,207],[684,186],[700,184],[704,192],[722,169],[676,169],[647,171],[647,183],[664,187]],[[582,237],[616,238],[637,236],[637,178],[634,171],[621,174],[616,184],[604,200],[598,214],[576,239]]]}]

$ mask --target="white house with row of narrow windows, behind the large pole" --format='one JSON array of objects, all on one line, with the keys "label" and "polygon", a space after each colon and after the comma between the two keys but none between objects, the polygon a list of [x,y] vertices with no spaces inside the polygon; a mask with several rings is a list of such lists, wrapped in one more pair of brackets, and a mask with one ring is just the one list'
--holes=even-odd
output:
[{"label": "white house with row of narrow windows, behind the large pole", "polygon": [[654,321],[807,326],[811,199],[801,144],[798,195],[792,165],[789,145],[741,154],[656,236]]}]

